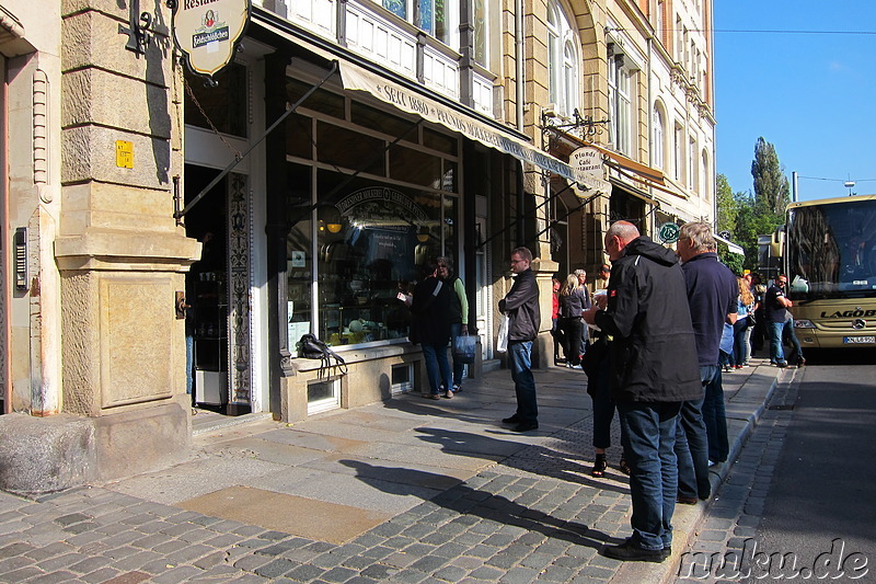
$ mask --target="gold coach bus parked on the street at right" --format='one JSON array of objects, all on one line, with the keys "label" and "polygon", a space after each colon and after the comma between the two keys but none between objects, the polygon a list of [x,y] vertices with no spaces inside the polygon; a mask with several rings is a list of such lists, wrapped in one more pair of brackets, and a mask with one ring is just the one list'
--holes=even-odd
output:
[{"label": "gold coach bus parked on the street at right", "polygon": [[782,265],[803,347],[876,345],[876,195],[792,203],[785,219]]}]

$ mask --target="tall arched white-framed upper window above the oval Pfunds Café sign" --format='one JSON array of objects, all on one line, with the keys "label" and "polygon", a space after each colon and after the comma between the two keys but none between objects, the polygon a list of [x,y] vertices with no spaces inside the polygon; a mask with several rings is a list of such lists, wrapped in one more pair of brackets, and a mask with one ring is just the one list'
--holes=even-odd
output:
[{"label": "tall arched white-framed upper window above the oval Pfunds Caf\u00e9 sign", "polygon": [[558,2],[548,5],[548,99],[561,116],[578,107],[578,57],[575,32]]}]

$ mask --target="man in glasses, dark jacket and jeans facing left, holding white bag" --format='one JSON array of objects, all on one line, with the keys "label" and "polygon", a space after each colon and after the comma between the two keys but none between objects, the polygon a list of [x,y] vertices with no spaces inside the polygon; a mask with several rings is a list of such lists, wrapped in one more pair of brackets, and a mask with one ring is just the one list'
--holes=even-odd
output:
[{"label": "man in glasses, dark jacket and jeans facing left, holding white bag", "polygon": [[517,392],[517,412],[503,420],[514,424],[514,432],[539,428],[535,378],[532,376],[532,342],[539,334],[539,285],[532,273],[532,252],[517,248],[511,252],[511,272],[517,274],[510,291],[499,300],[499,310],[508,316],[508,360]]}]

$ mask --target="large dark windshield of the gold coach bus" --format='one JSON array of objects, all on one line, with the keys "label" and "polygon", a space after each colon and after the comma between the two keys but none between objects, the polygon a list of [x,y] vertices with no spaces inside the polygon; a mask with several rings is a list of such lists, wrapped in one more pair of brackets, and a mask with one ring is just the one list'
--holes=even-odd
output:
[{"label": "large dark windshield of the gold coach bus", "polygon": [[786,229],[792,299],[876,296],[876,201],[792,208]]}]

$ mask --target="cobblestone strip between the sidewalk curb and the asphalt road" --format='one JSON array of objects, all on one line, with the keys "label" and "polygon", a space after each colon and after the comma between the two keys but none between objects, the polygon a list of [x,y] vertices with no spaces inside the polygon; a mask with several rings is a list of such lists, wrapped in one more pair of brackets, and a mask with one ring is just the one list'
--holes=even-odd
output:
[{"label": "cobblestone strip between the sidewalk curb and the asphalt road", "polygon": [[[792,370],[793,371],[793,370]],[[773,472],[793,417],[799,376],[781,383],[734,462],[690,545],[681,554],[675,582],[739,583],[763,516]]]}]

